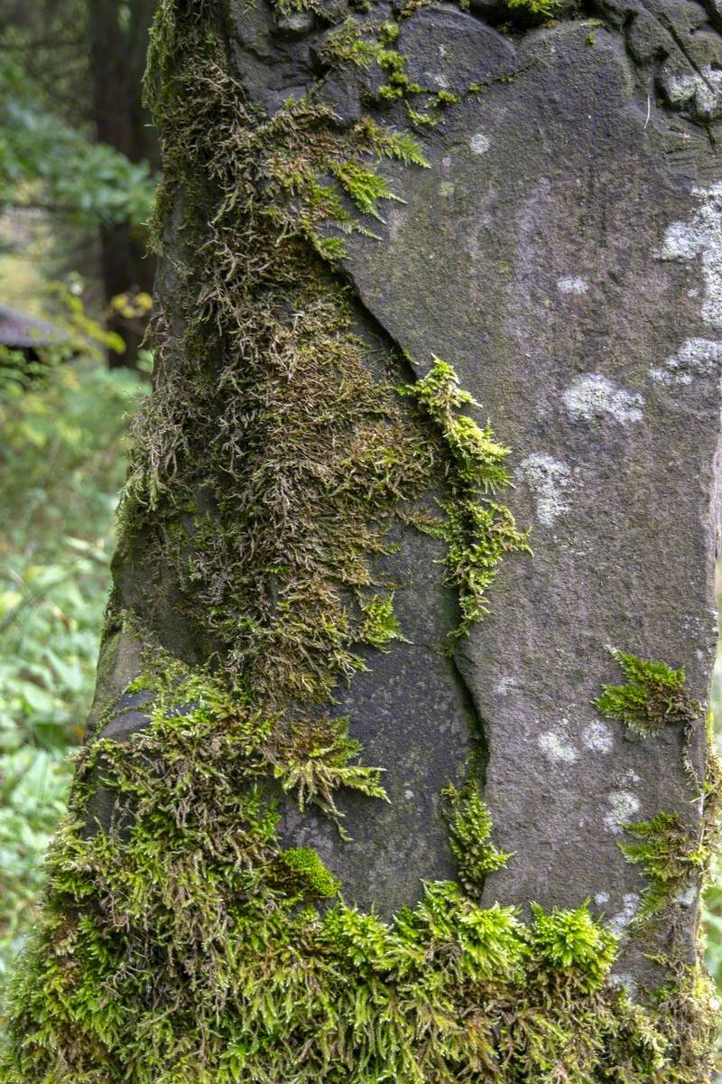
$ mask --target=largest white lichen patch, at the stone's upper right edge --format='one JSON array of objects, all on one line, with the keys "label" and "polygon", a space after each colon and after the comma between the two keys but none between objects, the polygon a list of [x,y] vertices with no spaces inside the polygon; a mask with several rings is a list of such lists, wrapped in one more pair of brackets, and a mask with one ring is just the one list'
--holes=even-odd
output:
[{"label": "largest white lichen patch, at the stone's upper right edge", "polygon": [[701,317],[722,327],[722,181],[709,189],[693,189],[698,208],[688,222],[672,222],[660,247],[659,260],[701,260],[705,297]]}]

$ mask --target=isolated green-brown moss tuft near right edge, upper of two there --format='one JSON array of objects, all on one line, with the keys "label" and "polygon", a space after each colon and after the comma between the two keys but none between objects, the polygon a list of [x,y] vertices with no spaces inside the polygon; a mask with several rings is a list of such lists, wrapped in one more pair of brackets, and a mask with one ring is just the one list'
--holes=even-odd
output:
[{"label": "isolated green-brown moss tuft near right edge, upper of two there", "polygon": [[684,669],[671,670],[664,662],[627,651],[613,650],[612,655],[627,684],[602,686],[595,705],[607,719],[626,723],[645,737],[658,734],[667,723],[686,727],[699,720],[700,706],[685,692]]}]

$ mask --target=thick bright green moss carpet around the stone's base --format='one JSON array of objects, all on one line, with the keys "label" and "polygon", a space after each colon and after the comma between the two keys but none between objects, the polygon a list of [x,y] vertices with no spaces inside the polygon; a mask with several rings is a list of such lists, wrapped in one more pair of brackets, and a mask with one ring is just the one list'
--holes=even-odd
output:
[{"label": "thick bright green moss carpet around the stone's base", "polygon": [[[337,882],[279,846],[267,721],[178,663],[146,678],[148,730],[79,763],[14,984],[6,1084],[678,1079],[674,1034],[611,984],[614,938],[586,906],[526,925],[441,881],[391,922],[319,911]],[[89,833],[100,787],[118,817]],[[464,802],[458,823],[487,831]]]}]

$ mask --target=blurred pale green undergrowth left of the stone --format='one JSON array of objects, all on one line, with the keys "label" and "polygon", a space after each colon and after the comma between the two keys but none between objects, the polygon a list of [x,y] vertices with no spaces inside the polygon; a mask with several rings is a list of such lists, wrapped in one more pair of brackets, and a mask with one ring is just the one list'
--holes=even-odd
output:
[{"label": "blurred pale green undergrowth left of the stone", "polygon": [[69,344],[39,361],[0,352],[0,991],[92,697],[127,417],[144,391],[105,367],[79,304],[66,325]]}]

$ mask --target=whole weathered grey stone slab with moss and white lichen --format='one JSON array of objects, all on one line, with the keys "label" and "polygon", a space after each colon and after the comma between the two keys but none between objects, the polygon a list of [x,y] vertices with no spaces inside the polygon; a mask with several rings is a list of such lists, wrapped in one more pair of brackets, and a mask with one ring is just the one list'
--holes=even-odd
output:
[{"label": "whole weathered grey stone slab with moss and white lichen", "polygon": [[720,36],[300,7],[160,3],[155,388],[6,1079],[707,1081]]}]

